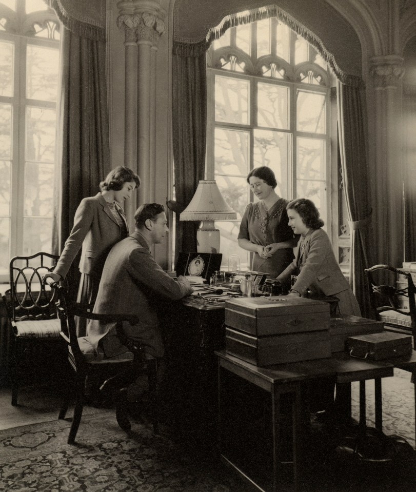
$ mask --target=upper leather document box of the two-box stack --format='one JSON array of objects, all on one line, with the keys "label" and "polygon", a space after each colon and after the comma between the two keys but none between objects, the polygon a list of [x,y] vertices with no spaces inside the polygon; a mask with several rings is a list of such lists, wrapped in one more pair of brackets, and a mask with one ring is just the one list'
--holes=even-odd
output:
[{"label": "upper leather document box of the two-box stack", "polygon": [[225,325],[256,337],[329,329],[329,304],[293,296],[227,299]]}]

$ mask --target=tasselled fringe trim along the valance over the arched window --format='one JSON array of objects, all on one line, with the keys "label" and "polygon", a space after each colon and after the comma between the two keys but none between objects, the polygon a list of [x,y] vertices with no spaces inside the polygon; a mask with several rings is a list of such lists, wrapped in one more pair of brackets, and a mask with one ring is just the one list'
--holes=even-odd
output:
[{"label": "tasselled fringe trim along the valance over the arched window", "polygon": [[210,47],[214,40],[219,39],[230,27],[240,26],[244,24],[249,24],[254,21],[262,21],[263,19],[269,17],[276,17],[279,21],[290,27],[294,32],[300,34],[308,43],[310,43],[319,53],[322,55],[324,60],[329,64],[329,66],[334,71],[336,77],[345,85],[352,87],[363,86],[363,80],[361,77],[356,75],[349,75],[336,63],[334,56],[325,48],[324,44],[318,36],[316,36],[312,31],[302,25],[300,22],[296,21],[290,14],[282,10],[277,5],[269,5],[266,7],[260,7],[255,10],[251,10],[244,15],[231,14],[224,17],[223,21],[219,26],[211,28],[208,31],[205,40],[199,43],[180,43],[174,42],[173,44],[173,54],[180,56],[201,56],[205,54],[207,49]]}]

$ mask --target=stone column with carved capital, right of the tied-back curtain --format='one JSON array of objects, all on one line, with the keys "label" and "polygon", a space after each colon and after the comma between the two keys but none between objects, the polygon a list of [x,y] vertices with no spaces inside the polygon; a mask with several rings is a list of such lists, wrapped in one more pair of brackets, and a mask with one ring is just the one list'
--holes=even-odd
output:
[{"label": "stone column with carved capital, right of the tied-back curtain", "polygon": [[373,225],[378,263],[398,267],[404,256],[401,94],[403,58],[370,58],[375,102],[375,203]]}]

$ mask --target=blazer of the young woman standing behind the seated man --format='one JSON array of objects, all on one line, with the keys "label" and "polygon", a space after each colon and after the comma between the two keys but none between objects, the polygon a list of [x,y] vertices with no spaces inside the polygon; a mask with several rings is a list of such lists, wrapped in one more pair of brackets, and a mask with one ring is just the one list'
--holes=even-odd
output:
[{"label": "blazer of the young woman standing behind the seated man", "polygon": [[80,271],[101,277],[110,249],[121,240],[121,228],[101,193],[84,198],[75,212],[74,225],[54,269],[62,277],[82,248]]}]

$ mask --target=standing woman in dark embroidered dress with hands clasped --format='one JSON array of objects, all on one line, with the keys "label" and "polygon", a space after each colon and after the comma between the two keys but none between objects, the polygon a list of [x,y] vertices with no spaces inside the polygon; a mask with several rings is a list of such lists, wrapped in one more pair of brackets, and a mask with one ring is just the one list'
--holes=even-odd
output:
[{"label": "standing woman in dark embroidered dress with hands clasped", "polygon": [[270,273],[274,278],[293,260],[293,248],[298,242],[288,226],[288,201],[274,191],[276,178],[266,166],[252,169],[247,183],[259,202],[247,205],[240,226],[239,246],[254,253],[252,270]]}]

